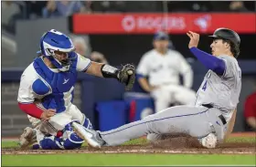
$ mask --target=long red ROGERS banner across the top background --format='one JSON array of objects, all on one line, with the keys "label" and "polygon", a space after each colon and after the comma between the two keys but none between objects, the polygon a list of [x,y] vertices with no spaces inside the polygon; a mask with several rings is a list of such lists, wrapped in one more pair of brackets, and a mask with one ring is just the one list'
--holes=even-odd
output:
[{"label": "long red ROGERS banner across the top background", "polygon": [[[229,20],[229,21],[227,21]],[[195,31],[212,34],[219,27],[238,33],[256,33],[254,13],[130,13],[130,14],[76,14],[70,29],[75,34],[153,34],[165,30],[169,34]]]}]

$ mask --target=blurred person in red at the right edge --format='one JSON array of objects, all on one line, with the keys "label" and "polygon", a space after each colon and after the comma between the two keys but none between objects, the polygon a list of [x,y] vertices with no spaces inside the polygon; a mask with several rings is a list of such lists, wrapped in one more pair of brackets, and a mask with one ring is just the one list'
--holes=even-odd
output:
[{"label": "blurred person in red at the right edge", "polygon": [[244,104],[244,118],[246,130],[256,130],[256,91],[252,93]]}]

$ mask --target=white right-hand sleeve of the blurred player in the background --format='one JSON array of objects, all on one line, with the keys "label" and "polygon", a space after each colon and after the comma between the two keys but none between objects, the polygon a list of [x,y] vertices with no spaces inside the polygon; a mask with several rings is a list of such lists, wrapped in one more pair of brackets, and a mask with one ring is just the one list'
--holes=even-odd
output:
[{"label": "white right-hand sleeve of the blurred player in the background", "polygon": [[184,86],[186,88],[191,88],[193,85],[193,70],[180,53],[177,52],[176,54],[178,57],[179,72],[183,76]]}]

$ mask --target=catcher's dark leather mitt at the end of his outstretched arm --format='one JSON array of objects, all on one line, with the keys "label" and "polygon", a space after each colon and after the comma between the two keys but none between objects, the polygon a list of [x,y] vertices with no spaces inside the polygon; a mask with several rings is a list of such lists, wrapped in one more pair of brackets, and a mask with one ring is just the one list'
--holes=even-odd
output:
[{"label": "catcher's dark leather mitt at the end of his outstretched arm", "polygon": [[118,79],[120,82],[125,84],[126,91],[133,89],[135,81],[135,67],[131,64],[124,65],[118,74]]}]

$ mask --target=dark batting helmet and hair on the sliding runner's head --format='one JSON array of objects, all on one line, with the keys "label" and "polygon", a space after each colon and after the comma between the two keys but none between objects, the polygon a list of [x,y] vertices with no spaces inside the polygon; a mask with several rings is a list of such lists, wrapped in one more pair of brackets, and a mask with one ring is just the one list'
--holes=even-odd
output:
[{"label": "dark batting helmet and hair on the sliding runner's head", "polygon": [[229,28],[218,28],[214,31],[213,38],[223,39],[230,42],[231,52],[234,57],[238,57],[240,54],[240,36],[235,31]]}]

